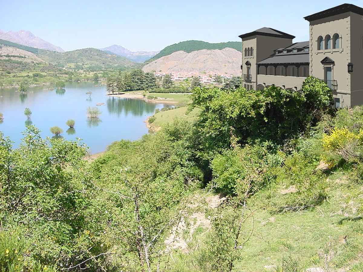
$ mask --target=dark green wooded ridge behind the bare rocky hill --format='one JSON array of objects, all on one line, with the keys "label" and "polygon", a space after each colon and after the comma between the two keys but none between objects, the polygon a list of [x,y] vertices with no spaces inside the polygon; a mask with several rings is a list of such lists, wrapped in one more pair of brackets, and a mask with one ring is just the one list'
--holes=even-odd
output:
[{"label": "dark green wooded ridge behind the bare rocky hill", "polygon": [[202,50],[202,49],[209,49],[209,50],[220,49],[221,50],[224,48],[233,48],[233,49],[236,49],[237,51],[241,51],[242,42],[220,42],[217,44],[211,44],[209,42],[195,41],[195,40],[179,42],[178,44],[172,44],[172,45],[167,46],[166,48],[161,50],[158,54],[156,54],[154,57],[152,57],[151,59],[148,59],[145,63],[150,63],[152,61],[155,61],[158,58],[170,55],[177,51],[184,51],[187,53],[191,53],[193,51],[198,51],[198,50]]}]

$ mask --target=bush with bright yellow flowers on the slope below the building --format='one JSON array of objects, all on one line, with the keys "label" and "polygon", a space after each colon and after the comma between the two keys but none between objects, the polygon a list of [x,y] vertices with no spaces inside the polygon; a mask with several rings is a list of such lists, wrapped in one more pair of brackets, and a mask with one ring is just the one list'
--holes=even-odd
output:
[{"label": "bush with bright yellow flowers on the slope below the building", "polygon": [[322,154],[322,160],[329,166],[336,165],[336,159],[356,160],[360,156],[358,147],[362,140],[362,129],[359,129],[359,132],[352,132],[346,127],[334,128],[329,135],[324,135],[321,140],[325,152]]}]

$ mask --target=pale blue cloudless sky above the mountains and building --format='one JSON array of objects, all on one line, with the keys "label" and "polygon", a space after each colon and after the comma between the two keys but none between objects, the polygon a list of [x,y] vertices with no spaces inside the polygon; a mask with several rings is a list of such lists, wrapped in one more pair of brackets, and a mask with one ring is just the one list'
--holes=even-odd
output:
[{"label": "pale blue cloudless sky above the mountains and building", "polygon": [[304,16],[363,0],[0,0],[0,29],[29,30],[64,50],[118,44],[153,51],[185,40],[239,41],[238,35],[271,27],[309,40]]}]

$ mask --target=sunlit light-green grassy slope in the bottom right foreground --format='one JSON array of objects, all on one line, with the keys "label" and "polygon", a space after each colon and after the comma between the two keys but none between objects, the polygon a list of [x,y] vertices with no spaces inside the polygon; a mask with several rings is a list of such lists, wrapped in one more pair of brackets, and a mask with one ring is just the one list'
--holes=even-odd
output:
[{"label": "sunlit light-green grassy slope in the bottom right foreground", "polygon": [[[363,198],[362,185],[348,181],[347,176],[344,171],[331,174],[328,201],[300,212],[276,213],[269,203],[278,201],[281,194],[272,190],[254,195],[249,202],[254,217],[243,226],[244,233],[253,226],[253,235],[242,249],[235,271],[293,271],[286,266],[280,270],[283,260],[298,268],[295,271],[313,267],[363,271],[363,219],[357,215],[359,204],[352,200]],[[207,211],[205,217],[211,213]],[[207,246],[209,229],[202,228],[193,236],[187,253],[176,250],[173,254],[172,271],[200,271],[196,256]],[[247,237],[242,234],[241,239]]]}]

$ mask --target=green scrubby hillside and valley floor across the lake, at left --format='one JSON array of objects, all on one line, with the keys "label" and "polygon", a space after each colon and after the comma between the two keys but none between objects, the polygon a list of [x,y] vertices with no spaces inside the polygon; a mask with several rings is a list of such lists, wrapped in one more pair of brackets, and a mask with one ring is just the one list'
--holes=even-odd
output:
[{"label": "green scrubby hillside and valley floor across the lake, at left", "polygon": [[[138,68],[139,63],[95,48],[84,48],[64,53],[37,49],[0,40],[5,51],[16,48],[16,54],[4,53],[0,59],[0,87],[44,85],[58,80],[87,81],[107,73]],[[24,51],[22,51],[24,50]],[[11,50],[10,50],[11,51]],[[105,73],[103,73],[105,72]]]}]

